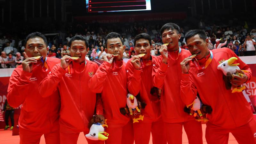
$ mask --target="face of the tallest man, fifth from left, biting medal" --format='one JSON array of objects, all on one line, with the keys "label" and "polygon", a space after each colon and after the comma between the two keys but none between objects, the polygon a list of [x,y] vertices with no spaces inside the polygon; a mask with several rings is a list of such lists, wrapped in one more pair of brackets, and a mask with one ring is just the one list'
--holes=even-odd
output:
[{"label": "face of the tallest man, fifth from left, biting medal", "polygon": [[[176,30],[164,30],[162,34],[162,41],[164,44],[169,43],[167,48],[172,50],[179,47],[179,40],[181,35],[177,33]],[[161,46],[160,46],[161,47]]]}]

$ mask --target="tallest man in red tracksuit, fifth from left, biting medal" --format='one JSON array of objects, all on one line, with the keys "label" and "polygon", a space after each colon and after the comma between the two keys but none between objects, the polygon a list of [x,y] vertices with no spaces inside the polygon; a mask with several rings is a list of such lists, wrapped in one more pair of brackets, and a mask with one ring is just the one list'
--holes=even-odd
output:
[{"label": "tallest man in red tracksuit, fifth from left, biting medal", "polygon": [[167,23],[161,28],[163,43],[168,45],[162,45],[161,56],[153,60],[153,85],[162,89],[161,112],[168,144],[182,143],[182,126],[189,144],[202,144],[202,124],[184,112],[186,105],[180,98],[180,62],[191,54],[178,45],[179,30],[174,23]]}]

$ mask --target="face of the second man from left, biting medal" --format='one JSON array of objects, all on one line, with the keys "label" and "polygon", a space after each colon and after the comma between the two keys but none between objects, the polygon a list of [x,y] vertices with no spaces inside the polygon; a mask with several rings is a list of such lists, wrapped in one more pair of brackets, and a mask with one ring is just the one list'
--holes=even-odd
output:
[{"label": "face of the second man from left, biting medal", "polygon": [[74,60],[76,63],[83,63],[87,54],[87,47],[83,40],[74,40],[70,45],[71,57],[79,57],[78,60]]}]

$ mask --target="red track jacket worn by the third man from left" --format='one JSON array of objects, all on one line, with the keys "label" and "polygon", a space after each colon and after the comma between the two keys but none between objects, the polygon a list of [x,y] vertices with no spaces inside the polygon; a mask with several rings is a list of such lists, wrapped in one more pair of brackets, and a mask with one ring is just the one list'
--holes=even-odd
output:
[{"label": "red track jacket worn by the third man from left", "polygon": [[103,62],[89,81],[89,89],[101,93],[108,127],[121,127],[131,120],[131,117],[120,113],[120,108],[126,107],[127,78],[125,63],[118,61],[117,65],[122,66],[112,70],[111,64]]}]

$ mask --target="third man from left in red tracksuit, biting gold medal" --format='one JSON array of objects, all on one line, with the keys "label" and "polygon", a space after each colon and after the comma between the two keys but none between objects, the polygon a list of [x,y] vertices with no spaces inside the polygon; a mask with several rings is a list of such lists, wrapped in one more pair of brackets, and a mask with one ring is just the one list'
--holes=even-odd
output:
[{"label": "third man from left in red tracksuit, biting gold medal", "polygon": [[[101,93],[104,117],[109,133],[106,144],[133,144],[132,119],[120,113],[126,107],[127,78],[125,63],[122,60],[125,46],[122,37],[115,32],[105,38],[108,54],[95,75],[89,81],[92,92]],[[118,55],[118,56],[114,56]]]}]

